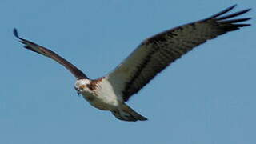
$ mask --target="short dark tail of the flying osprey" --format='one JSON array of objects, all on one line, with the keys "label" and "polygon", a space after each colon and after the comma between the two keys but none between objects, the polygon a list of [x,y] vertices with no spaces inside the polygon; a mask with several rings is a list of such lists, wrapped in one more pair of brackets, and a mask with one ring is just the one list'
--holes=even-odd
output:
[{"label": "short dark tail of the flying osprey", "polygon": [[141,114],[138,114],[130,106],[127,106],[126,103],[123,103],[117,110],[112,111],[114,116],[122,121],[146,121],[147,118],[143,117]]}]

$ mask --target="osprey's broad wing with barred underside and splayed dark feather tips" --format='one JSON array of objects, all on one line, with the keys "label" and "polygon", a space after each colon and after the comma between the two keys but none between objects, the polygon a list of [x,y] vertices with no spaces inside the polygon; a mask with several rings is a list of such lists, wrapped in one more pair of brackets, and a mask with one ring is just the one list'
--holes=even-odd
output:
[{"label": "osprey's broad wing with barred underside and splayed dark feather tips", "polygon": [[159,72],[194,47],[229,31],[250,24],[241,24],[250,18],[234,18],[250,9],[223,15],[232,10],[230,6],[210,18],[166,30],[143,41],[128,58],[107,75],[114,90],[122,94],[124,101],[142,89]]}]

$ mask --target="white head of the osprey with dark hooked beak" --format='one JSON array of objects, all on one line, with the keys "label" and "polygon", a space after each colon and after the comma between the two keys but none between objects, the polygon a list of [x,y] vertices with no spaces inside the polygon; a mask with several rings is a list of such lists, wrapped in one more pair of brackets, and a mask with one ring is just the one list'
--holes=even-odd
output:
[{"label": "white head of the osprey with dark hooked beak", "polygon": [[74,83],[74,89],[77,90],[78,94],[82,94],[83,92],[90,92],[90,79],[78,79]]}]

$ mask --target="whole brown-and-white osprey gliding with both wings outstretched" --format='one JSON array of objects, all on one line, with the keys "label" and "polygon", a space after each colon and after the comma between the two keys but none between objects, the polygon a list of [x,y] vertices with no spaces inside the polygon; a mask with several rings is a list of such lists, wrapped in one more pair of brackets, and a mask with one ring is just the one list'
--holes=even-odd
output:
[{"label": "whole brown-and-white osprey gliding with both wings outstretched", "polygon": [[110,74],[98,79],[88,78],[76,66],[53,51],[19,37],[15,28],[14,36],[25,45],[26,49],[52,58],[70,70],[77,79],[74,89],[92,106],[100,110],[109,110],[116,118],[123,121],[145,121],[147,118],[135,112],[125,102],[171,62],[181,58],[194,47],[218,35],[250,26],[250,24],[239,23],[250,18],[230,19],[245,14],[250,9],[226,14],[235,6],[230,6],[209,18],[178,26],[147,38]]}]

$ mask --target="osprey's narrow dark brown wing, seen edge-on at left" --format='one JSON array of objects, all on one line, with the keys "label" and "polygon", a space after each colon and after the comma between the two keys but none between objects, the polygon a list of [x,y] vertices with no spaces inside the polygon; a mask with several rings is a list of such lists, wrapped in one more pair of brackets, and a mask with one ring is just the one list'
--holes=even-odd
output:
[{"label": "osprey's narrow dark brown wing, seen edge-on at left", "polygon": [[81,70],[78,70],[78,68],[74,65],[72,65],[70,62],[66,61],[66,59],[62,58],[58,54],[54,53],[51,50],[46,49],[45,47],[39,46],[38,44],[35,44],[34,42],[30,42],[26,39],[20,38],[18,36],[18,32],[16,29],[14,29],[14,36],[18,39],[20,39],[20,42],[22,42],[26,49],[32,50],[38,54],[42,54],[48,58],[54,59],[54,61],[58,62],[62,66],[65,66],[67,70],[70,70],[72,74],[74,74],[75,78],[77,79],[83,79],[87,78],[86,74],[83,74]]}]

